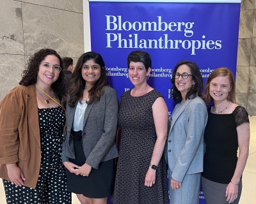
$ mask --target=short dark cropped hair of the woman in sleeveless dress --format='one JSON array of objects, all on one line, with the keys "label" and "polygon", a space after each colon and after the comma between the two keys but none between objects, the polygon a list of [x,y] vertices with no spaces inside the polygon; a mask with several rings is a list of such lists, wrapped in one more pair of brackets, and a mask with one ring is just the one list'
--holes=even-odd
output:
[{"label": "short dark cropped hair of the woman in sleeveless dress", "polygon": [[148,52],[136,50],[132,51],[127,57],[128,68],[130,66],[130,62],[142,62],[148,71],[148,68],[151,68],[151,57]]}]

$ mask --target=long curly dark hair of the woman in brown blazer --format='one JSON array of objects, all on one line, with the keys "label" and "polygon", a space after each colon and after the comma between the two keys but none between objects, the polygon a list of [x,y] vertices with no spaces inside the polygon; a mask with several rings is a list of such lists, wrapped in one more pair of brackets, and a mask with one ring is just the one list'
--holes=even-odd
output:
[{"label": "long curly dark hair of the woman in brown blazer", "polygon": [[61,98],[66,94],[66,80],[63,71],[63,61],[60,55],[58,55],[55,50],[49,48],[41,49],[33,56],[29,57],[27,66],[21,75],[22,79],[20,80],[19,84],[25,86],[36,84],[40,63],[45,59],[47,55],[55,55],[60,61],[60,76],[58,77],[56,82],[52,84],[52,89],[54,91],[54,94],[58,98]]}]

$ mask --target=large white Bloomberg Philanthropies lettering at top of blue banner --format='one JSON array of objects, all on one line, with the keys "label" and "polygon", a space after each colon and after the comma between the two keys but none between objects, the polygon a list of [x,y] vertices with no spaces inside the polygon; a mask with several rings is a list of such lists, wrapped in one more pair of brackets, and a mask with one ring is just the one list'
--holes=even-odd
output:
[{"label": "large white Bloomberg Philanthropies lettering at top of blue banner", "polygon": [[[106,15],[106,48],[154,48],[154,49],[186,49],[191,50],[191,55],[196,55],[196,50],[220,50],[221,40],[207,40],[202,38],[191,40],[194,35],[195,22],[165,22],[161,16],[156,21],[122,21],[121,15]],[[138,31],[161,32],[158,39],[142,39]],[[122,32],[122,33],[121,33]],[[171,39],[172,32],[180,32],[185,36],[182,40]],[[145,35],[144,35],[145,36]],[[188,38],[188,40],[186,39]]]}]

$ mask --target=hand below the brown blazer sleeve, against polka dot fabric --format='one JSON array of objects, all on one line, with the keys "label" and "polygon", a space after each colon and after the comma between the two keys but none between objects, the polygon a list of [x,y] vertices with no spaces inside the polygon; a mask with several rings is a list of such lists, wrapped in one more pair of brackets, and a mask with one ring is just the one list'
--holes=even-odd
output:
[{"label": "hand below the brown blazer sleeve, against polka dot fabric", "polygon": [[26,180],[22,170],[20,170],[19,166],[17,166],[16,163],[12,164],[6,164],[7,171],[8,171],[8,177],[12,184],[15,184],[16,186],[23,186],[24,182],[23,180]]}]

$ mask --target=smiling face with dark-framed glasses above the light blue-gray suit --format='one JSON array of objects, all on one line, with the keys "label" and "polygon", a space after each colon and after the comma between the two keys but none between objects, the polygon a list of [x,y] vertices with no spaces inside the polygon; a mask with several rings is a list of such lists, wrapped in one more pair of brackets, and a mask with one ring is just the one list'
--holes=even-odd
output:
[{"label": "smiling face with dark-framed glasses above the light blue-gray suit", "polygon": [[[191,75],[190,68],[186,64],[180,65],[176,73],[179,73],[180,75],[182,75],[183,73],[187,73],[188,75]],[[193,84],[195,84],[195,82],[192,76],[189,76],[186,79],[182,78],[181,76],[179,78],[175,78],[175,86],[180,92],[182,98],[186,97],[186,94],[188,93],[188,91],[192,89]]]}]

